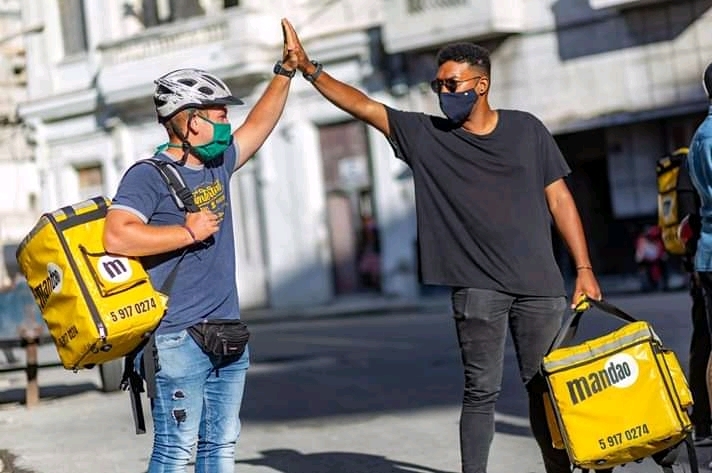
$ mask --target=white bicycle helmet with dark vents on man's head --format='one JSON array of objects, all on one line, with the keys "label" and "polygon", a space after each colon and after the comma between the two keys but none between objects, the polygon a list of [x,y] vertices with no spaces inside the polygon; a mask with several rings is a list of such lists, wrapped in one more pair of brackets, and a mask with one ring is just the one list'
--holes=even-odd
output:
[{"label": "white bicycle helmet with dark vents on man's head", "polygon": [[177,69],[154,82],[153,102],[160,123],[165,123],[186,108],[244,103],[232,95],[222,80],[200,69]]}]

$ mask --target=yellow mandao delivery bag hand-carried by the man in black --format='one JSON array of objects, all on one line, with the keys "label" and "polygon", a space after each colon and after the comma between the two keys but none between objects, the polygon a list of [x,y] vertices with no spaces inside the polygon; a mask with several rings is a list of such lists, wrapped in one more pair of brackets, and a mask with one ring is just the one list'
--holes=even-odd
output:
[{"label": "yellow mandao delivery bag hand-carried by the man in black", "polygon": [[685,442],[696,472],[687,413],[692,395],[675,353],[662,345],[649,323],[607,302],[585,304],[627,323],[574,346],[562,345],[573,338],[583,309],[561,327],[542,363],[554,446],[565,448],[582,469],[610,468],[648,456],[665,468]]}]

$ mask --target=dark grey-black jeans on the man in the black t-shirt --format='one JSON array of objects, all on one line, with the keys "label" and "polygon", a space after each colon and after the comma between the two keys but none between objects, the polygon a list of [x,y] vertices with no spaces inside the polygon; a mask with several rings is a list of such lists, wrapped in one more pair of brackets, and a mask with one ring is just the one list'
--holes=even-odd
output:
[{"label": "dark grey-black jeans on the man in the black t-shirt", "polygon": [[570,473],[566,451],[552,447],[543,404],[546,382],[539,373],[542,358],[561,326],[566,299],[455,288],[452,309],[465,373],[460,414],[462,472],[487,471],[509,327],[520,377],[529,395],[529,421],[544,467],[547,473]]}]

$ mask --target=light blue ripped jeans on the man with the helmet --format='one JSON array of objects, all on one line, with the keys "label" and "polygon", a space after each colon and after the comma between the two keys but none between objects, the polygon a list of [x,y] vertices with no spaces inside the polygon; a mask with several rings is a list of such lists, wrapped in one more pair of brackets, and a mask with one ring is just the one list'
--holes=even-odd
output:
[{"label": "light blue ripped jeans on the man with the helmet", "polygon": [[233,473],[249,350],[240,358],[208,355],[186,330],[156,335],[156,348],[148,473],[184,473],[196,439],[195,473]]}]

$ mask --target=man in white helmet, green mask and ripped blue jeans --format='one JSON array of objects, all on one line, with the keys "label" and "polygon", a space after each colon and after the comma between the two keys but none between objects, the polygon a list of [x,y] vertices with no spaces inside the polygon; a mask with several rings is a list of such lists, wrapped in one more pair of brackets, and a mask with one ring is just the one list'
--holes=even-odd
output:
[{"label": "man in white helmet, green mask and ripped blue jeans", "polygon": [[181,210],[157,170],[139,164],[122,178],[104,231],[106,250],[141,257],[156,287],[177,267],[168,310],[137,360],[142,372],[155,369],[148,473],[184,472],[196,443],[196,473],[235,471],[249,350],[238,322],[229,180],[275,127],[296,65],[285,38],[274,77],[234,132],[227,106],[243,102],[213,74],[180,69],[155,81],[168,134],[155,158],[175,164],[199,211]]}]

